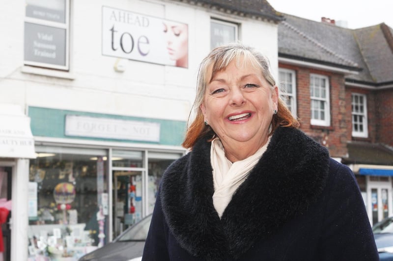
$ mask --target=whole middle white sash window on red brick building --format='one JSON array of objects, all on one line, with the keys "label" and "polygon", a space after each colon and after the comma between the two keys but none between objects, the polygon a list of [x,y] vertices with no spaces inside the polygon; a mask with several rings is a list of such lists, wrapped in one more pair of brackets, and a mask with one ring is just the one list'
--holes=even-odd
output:
[{"label": "whole middle white sash window on red brick building", "polygon": [[311,125],[330,126],[329,80],[310,75]]}]

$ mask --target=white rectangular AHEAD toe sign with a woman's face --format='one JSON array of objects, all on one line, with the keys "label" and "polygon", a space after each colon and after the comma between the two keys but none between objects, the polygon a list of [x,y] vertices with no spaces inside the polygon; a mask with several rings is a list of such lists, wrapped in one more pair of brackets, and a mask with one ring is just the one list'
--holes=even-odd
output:
[{"label": "white rectangular AHEAD toe sign with a woman's face", "polygon": [[103,55],[162,65],[188,59],[188,25],[102,7]]}]

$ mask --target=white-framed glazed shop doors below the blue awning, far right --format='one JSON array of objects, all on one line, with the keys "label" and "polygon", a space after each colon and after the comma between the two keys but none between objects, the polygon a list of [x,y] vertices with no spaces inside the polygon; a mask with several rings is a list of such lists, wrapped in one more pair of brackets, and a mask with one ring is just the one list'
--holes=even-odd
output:
[{"label": "white-framed glazed shop doors below the blue awning, far right", "polygon": [[368,215],[373,225],[393,214],[392,183],[390,177],[370,176],[367,187],[368,200],[371,202],[368,207]]}]

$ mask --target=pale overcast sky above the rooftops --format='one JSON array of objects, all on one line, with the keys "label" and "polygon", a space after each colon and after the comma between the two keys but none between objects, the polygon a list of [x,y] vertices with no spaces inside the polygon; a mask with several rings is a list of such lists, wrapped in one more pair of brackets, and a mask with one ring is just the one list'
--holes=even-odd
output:
[{"label": "pale overcast sky above the rooftops", "polygon": [[327,17],[351,29],[385,23],[393,28],[393,0],[267,0],[276,11],[314,21]]}]

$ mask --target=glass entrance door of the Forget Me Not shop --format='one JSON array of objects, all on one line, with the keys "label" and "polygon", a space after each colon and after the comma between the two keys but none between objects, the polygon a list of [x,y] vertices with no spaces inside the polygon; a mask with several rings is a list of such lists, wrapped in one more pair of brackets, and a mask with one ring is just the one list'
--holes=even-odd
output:
[{"label": "glass entrance door of the Forget Me Not shop", "polygon": [[113,171],[113,238],[142,218],[144,171]]}]

